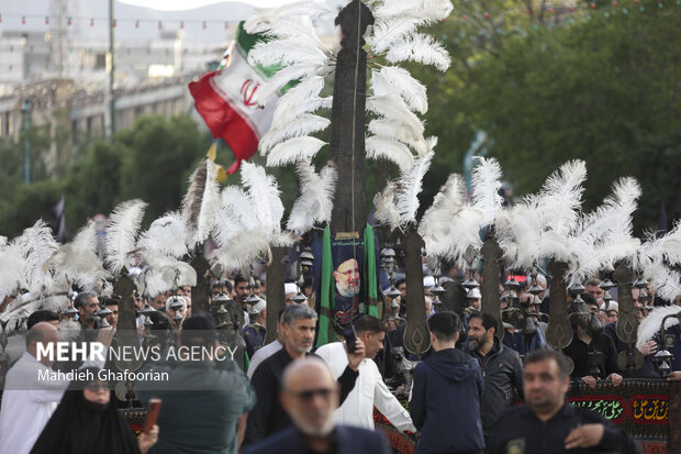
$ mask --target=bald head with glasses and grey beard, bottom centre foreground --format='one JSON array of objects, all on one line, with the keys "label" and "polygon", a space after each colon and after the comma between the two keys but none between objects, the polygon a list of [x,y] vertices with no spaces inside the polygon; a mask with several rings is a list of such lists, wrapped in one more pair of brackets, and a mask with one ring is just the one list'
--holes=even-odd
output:
[{"label": "bald head with glasses and grey beard, bottom centre foreground", "polygon": [[326,436],[334,430],[338,398],[338,385],[322,359],[298,359],[284,369],[281,406],[303,434]]}]

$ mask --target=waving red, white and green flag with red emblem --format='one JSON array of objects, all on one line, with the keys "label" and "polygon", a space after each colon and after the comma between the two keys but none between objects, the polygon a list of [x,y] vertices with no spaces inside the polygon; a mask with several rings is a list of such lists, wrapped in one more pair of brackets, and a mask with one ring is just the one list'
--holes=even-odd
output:
[{"label": "waving red, white and green flag with red emblem", "polygon": [[260,137],[272,123],[278,99],[272,95],[265,108],[255,101],[258,88],[279,68],[248,65],[248,51],[263,38],[246,33],[243,25],[238,25],[228,66],[189,84],[194,107],[213,137],[224,140],[234,152],[236,160],[227,169],[230,175],[258,150]]}]

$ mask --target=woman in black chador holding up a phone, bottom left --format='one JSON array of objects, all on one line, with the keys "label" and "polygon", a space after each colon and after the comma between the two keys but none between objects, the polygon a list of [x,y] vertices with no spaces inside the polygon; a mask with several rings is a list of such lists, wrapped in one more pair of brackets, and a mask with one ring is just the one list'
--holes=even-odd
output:
[{"label": "woman in black chador holding up a phone, bottom left", "polygon": [[82,368],[90,380],[74,380],[31,450],[31,454],[145,454],[158,440],[158,427],[139,441],[119,413],[100,369]]}]

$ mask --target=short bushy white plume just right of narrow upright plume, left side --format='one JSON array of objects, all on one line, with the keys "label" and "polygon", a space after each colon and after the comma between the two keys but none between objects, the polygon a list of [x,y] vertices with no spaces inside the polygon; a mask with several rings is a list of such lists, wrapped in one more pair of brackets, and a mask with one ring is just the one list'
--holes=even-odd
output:
[{"label": "short bushy white plume just right of narrow upright plume, left side", "polygon": [[152,222],[149,230],[139,235],[137,248],[181,258],[189,253],[186,236],[187,230],[180,214],[170,212]]}]

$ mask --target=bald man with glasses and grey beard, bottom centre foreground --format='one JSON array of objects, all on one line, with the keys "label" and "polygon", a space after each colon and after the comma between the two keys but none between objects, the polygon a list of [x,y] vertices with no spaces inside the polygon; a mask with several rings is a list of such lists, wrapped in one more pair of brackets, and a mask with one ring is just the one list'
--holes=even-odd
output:
[{"label": "bald man with glasses and grey beard, bottom centre foreground", "polygon": [[280,400],[292,428],[244,449],[246,454],[389,454],[382,435],[349,425],[336,425],[339,388],[323,359],[306,357],[283,373]]}]

